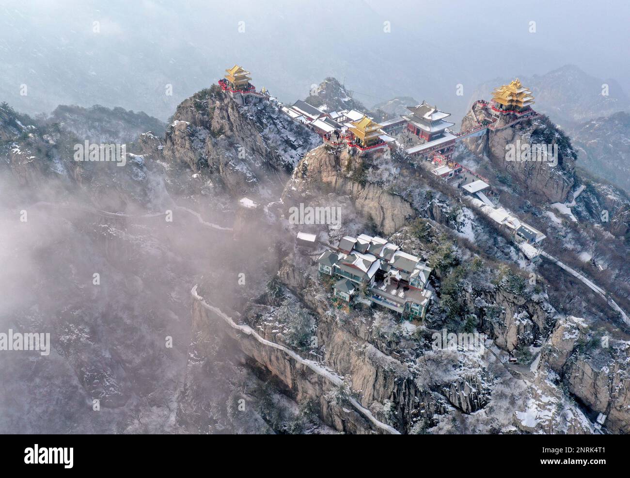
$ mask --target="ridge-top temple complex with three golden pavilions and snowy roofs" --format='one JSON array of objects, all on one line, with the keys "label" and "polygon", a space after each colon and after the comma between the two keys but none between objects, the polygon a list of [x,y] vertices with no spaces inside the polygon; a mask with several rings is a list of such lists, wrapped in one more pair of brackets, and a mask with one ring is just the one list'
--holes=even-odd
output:
[{"label": "ridge-top temple complex with three golden pavilions and snowy roofs", "polygon": [[[495,88],[491,102],[484,100],[475,102],[475,105],[481,105],[486,112],[485,117],[482,115],[481,120],[476,118],[477,124],[466,131],[455,133],[452,131],[455,124],[449,120],[450,113],[426,101],[420,105],[408,106],[408,114],[379,124],[365,112],[355,109],[327,111],[326,108],[318,108],[302,100],[297,100],[292,105],[284,105],[265,88],[256,91],[249,75],[249,71],[234,65],[226,69],[225,77],[219,79],[219,86],[239,105],[249,105],[261,100],[272,102],[278,111],[291,120],[319,134],[328,146],[347,148],[352,154],[364,154],[381,148],[396,149],[402,146],[408,156],[422,158],[438,166],[436,173],[447,179],[457,175],[461,169],[452,163],[457,141],[473,135],[481,136],[488,130],[503,129],[514,122],[536,115],[531,108],[534,96],[518,78],[509,85]],[[445,172],[439,170],[440,167]]]}]

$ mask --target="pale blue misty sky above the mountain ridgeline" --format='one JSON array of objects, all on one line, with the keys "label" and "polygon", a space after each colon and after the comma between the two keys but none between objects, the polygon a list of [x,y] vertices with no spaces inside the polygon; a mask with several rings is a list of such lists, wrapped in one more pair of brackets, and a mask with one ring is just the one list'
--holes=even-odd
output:
[{"label": "pale blue misty sky above the mountain ridgeline", "polygon": [[[626,1],[234,5],[0,0],[0,101],[30,114],[60,103],[98,103],[165,120],[234,63],[285,102],[335,76],[368,107],[406,95],[461,110],[479,83],[568,63],[602,80],[630,83]],[[464,96],[455,95],[457,84]]]}]

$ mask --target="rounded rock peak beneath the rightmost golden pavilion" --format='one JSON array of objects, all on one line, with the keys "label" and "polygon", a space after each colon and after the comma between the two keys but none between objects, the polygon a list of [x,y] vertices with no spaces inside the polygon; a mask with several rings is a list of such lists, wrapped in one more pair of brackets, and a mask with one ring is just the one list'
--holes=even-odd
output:
[{"label": "rounded rock peak beneath the rightmost golden pavilion", "polygon": [[[484,119],[488,119],[488,113],[483,106],[476,104],[462,120],[462,130]],[[524,120],[500,129],[503,122],[505,120],[500,119],[496,131],[489,130],[481,137],[464,139],[466,146],[479,156],[486,155],[498,172],[510,175],[512,181],[522,184],[530,194],[543,201],[564,202],[575,182],[577,158],[568,137],[545,117]],[[508,161],[507,148],[516,148],[517,144],[555,145],[558,147],[558,164],[554,166],[548,161]]]}]

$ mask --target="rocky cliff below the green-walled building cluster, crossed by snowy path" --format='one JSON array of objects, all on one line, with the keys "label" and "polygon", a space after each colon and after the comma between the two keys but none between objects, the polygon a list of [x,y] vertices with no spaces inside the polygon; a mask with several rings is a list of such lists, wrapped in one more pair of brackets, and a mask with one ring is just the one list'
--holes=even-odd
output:
[{"label": "rocky cliff below the green-walled building cluster, crossed by snowy path", "polygon": [[[296,352],[304,358],[317,358],[326,370],[343,378],[345,393],[356,397],[377,420],[402,433],[425,431],[451,409],[465,414],[483,409],[492,393],[493,377],[498,374],[507,379],[500,367],[486,370],[478,353],[418,350],[423,339],[421,334],[410,334],[415,327],[406,332],[400,328],[398,332],[389,331],[389,318],[379,313],[353,313],[342,318],[331,313],[326,301],[314,297],[311,291],[304,300],[316,307],[317,346]],[[267,341],[285,344],[285,329],[273,313],[273,308],[255,306],[244,320]],[[193,330],[198,333],[224,322],[217,313],[201,305],[193,306],[193,317]],[[338,387],[325,377],[313,373],[278,347],[261,345],[229,327],[226,333],[258,366],[284,383],[290,396],[298,402],[316,401],[329,426],[348,433],[382,433],[347,402],[331,400],[339,393]],[[420,342],[416,342],[418,339]]]}]

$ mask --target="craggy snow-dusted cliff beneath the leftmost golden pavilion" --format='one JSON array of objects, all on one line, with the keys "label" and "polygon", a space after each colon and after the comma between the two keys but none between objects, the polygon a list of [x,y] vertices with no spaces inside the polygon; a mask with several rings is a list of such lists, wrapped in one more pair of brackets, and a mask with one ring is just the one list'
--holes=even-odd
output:
[{"label": "craggy snow-dusted cliff beneath the leftmost golden pavilion", "polygon": [[209,174],[234,197],[271,198],[302,154],[319,143],[319,136],[289,120],[277,106],[239,106],[213,86],[178,106],[161,154],[194,173]]}]

